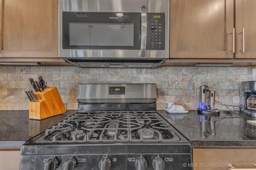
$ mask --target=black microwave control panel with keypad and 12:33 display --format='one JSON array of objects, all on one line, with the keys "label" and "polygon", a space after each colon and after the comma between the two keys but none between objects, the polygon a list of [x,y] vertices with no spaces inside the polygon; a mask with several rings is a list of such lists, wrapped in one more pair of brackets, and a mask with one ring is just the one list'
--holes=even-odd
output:
[{"label": "black microwave control panel with keypad and 12:33 display", "polygon": [[165,13],[148,13],[147,50],[165,50]]}]

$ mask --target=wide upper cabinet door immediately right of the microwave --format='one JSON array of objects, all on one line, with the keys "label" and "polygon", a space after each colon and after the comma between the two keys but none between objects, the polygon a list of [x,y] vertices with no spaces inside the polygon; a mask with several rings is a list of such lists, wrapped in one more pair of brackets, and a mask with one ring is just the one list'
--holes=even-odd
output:
[{"label": "wide upper cabinet door immediately right of the microwave", "polygon": [[233,59],[234,0],[170,0],[170,58]]}]

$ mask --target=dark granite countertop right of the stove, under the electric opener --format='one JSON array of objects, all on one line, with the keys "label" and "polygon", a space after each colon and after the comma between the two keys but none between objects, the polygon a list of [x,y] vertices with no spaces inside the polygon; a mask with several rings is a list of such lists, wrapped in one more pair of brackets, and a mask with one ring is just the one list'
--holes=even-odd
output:
[{"label": "dark granite countertop right of the stove, under the electric opener", "polygon": [[219,116],[198,115],[197,111],[158,113],[182,133],[192,146],[256,146],[256,125],[247,122],[256,118],[239,111],[220,111]]}]

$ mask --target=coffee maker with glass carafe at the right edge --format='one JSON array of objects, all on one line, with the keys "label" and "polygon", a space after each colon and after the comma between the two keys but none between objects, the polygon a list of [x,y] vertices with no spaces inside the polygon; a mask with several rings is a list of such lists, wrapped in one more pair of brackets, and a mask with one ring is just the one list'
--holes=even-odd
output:
[{"label": "coffee maker with glass carafe at the right edge", "polygon": [[256,117],[256,81],[242,82],[244,93],[244,111],[246,115]]}]

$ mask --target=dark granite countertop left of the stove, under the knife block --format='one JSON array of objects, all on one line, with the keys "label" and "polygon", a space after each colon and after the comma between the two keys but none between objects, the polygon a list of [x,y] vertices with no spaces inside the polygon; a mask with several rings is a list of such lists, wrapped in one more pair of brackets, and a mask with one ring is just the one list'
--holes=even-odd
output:
[{"label": "dark granite countertop left of the stove, under the knife block", "polygon": [[76,113],[66,111],[42,120],[28,118],[28,111],[0,111],[0,147],[21,147],[26,141]]}]

